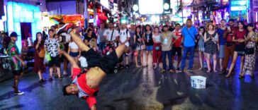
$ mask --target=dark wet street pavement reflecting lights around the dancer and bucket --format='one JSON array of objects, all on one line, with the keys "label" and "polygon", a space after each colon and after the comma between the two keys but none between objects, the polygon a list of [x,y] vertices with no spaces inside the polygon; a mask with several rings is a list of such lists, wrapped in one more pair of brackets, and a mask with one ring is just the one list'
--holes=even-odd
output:
[{"label": "dark wet street pavement reflecting lights around the dancer and bucket", "polygon": [[[197,55],[197,52],[196,52]],[[150,63],[151,61],[149,61]],[[256,61],[257,62],[257,61]],[[258,63],[258,62],[257,62]],[[150,64],[149,64],[150,65]],[[256,66],[257,67],[257,66]],[[187,68],[187,67],[186,67]],[[258,78],[239,79],[240,61],[231,78],[218,73],[199,71],[198,57],[194,58],[194,72],[159,73],[160,69],[124,68],[108,74],[100,85],[97,98],[99,110],[257,110]],[[258,68],[255,75],[258,76]],[[207,78],[205,89],[191,87],[190,76]],[[49,74],[44,73],[48,79]],[[88,109],[86,102],[75,96],[64,97],[62,87],[71,78],[39,83],[38,75],[30,72],[23,76],[19,88],[23,95],[13,95],[13,79],[0,83],[0,109],[24,110],[80,110]]]}]

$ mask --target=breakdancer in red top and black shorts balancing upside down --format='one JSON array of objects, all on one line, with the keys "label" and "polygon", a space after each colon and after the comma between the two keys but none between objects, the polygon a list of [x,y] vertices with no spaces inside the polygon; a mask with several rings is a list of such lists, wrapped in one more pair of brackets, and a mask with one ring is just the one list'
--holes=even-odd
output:
[{"label": "breakdancer in red top and black shorts balancing upside down", "polygon": [[119,57],[123,54],[125,45],[120,45],[116,48],[116,51],[102,58],[94,49],[87,47],[82,42],[82,39],[74,34],[74,31],[68,30],[68,32],[79,46],[79,49],[81,49],[82,56],[87,59],[89,71],[82,73],[72,56],[60,51],[60,54],[67,57],[71,63],[73,71],[72,84],[63,87],[64,95],[77,95],[86,100],[91,110],[96,109],[96,97],[94,94],[99,90],[99,84],[106,76],[106,73],[112,73],[113,67],[116,66]]}]

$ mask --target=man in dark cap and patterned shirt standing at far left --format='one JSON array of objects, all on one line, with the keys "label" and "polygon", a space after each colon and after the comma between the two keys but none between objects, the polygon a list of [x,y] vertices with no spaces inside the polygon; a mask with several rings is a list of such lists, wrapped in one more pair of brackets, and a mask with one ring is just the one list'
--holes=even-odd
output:
[{"label": "man in dark cap and patterned shirt standing at far left", "polygon": [[12,32],[10,37],[11,37],[11,42],[9,43],[9,56],[11,60],[11,70],[13,71],[13,89],[14,89],[14,94],[19,95],[19,94],[24,94],[24,92],[21,92],[18,90],[18,82],[23,75],[23,70],[21,68],[21,64],[23,66],[26,66],[26,63],[19,58],[18,56],[18,47],[16,46],[15,42],[17,41],[17,33]]}]

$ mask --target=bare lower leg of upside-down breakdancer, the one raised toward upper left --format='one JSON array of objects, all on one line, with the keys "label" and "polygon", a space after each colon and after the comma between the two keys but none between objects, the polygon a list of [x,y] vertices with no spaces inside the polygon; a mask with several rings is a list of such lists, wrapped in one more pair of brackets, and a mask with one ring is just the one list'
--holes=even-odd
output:
[{"label": "bare lower leg of upside-down breakdancer, the one raised toward upper left", "polygon": [[[68,30],[69,32],[69,30]],[[84,44],[84,42],[82,41],[82,39],[76,35],[73,31],[69,33],[72,37],[72,39],[74,40],[74,42],[79,46],[79,49],[81,51],[89,51],[89,47],[86,46],[86,44]]]}]

